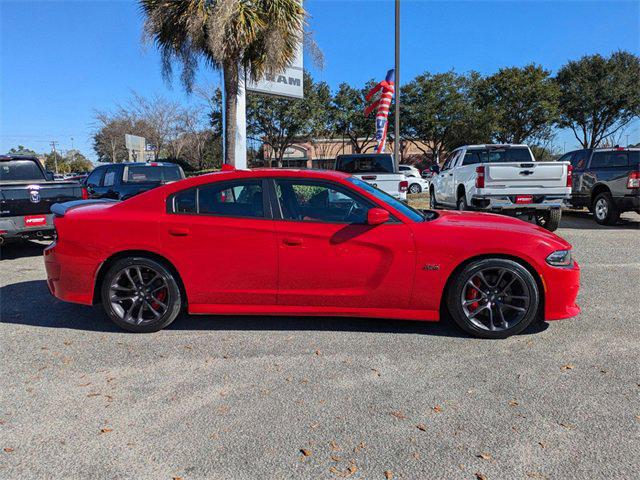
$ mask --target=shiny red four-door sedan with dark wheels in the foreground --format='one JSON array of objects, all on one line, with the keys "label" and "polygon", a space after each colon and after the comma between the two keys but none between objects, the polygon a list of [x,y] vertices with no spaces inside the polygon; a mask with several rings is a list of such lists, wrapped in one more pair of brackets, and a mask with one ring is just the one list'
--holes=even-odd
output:
[{"label": "shiny red four-door sedan with dark wheels in the foreground", "polygon": [[[100,203],[96,203],[100,202]],[[338,172],[232,170],[53,208],[49,289],[122,328],[190,314],[436,321],[503,338],[580,311],[571,245],[504,216],[418,211]]]}]

